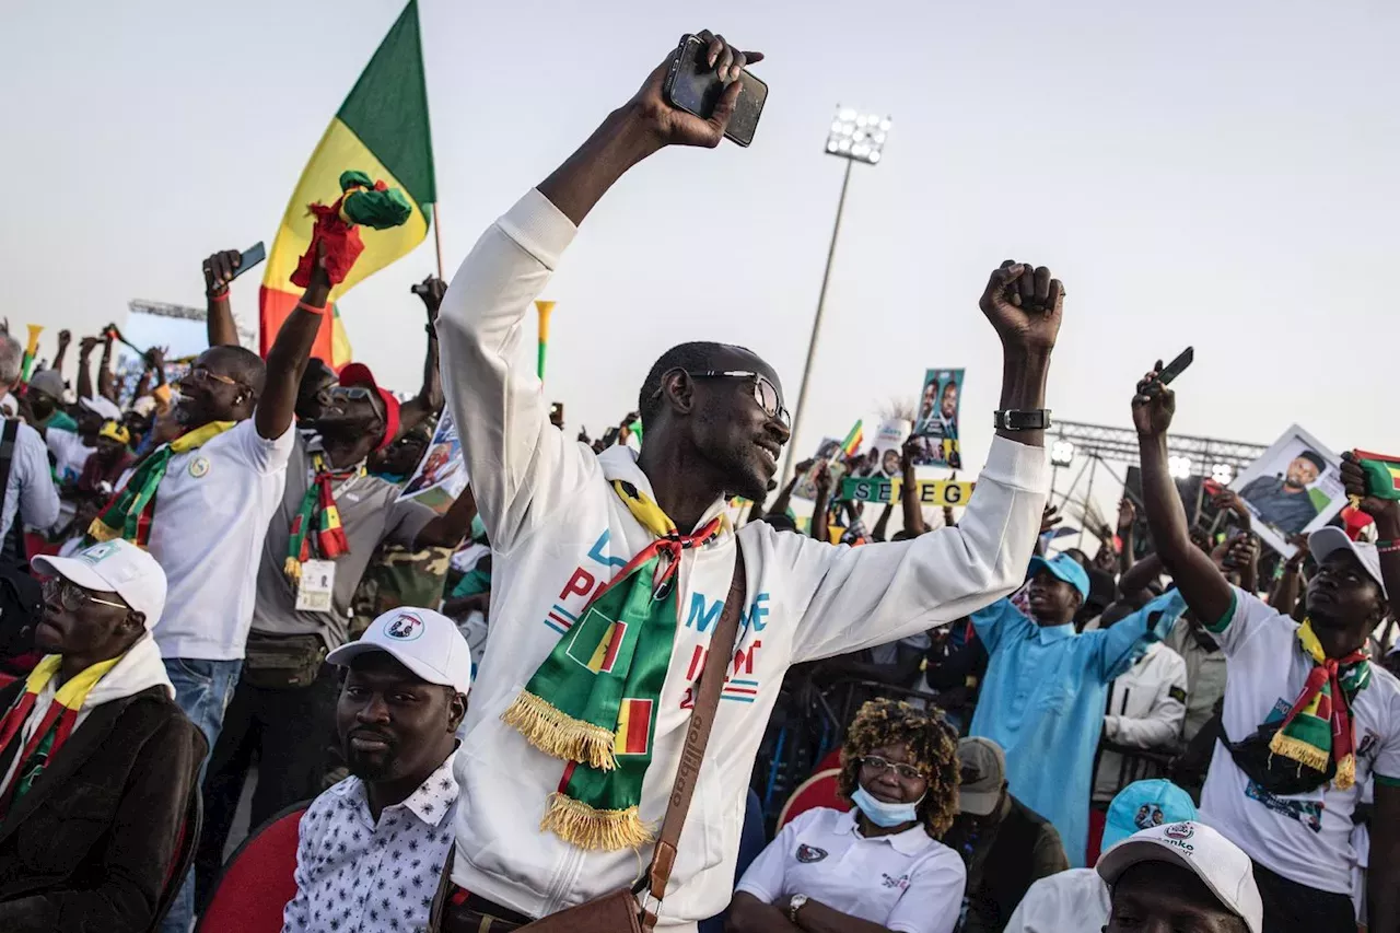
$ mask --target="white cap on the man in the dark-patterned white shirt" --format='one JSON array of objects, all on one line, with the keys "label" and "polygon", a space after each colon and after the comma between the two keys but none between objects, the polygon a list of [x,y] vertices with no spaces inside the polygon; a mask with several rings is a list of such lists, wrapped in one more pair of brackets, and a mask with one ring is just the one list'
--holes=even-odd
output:
[{"label": "white cap on the man in the dark-patterned white shirt", "polygon": [[466,696],[472,689],[472,649],[456,622],[433,609],[403,605],[370,623],[358,642],[342,644],[326,656],[340,667],[370,651],[386,651],[428,684],[451,686]]}]

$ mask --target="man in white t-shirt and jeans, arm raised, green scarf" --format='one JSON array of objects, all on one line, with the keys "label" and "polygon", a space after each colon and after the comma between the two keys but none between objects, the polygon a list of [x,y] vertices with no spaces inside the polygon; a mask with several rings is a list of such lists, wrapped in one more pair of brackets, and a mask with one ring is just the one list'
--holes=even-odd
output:
[{"label": "man in white t-shirt and jeans, arm raised, green scarf", "polygon": [[[321,258],[266,366],[239,346],[200,353],[175,405],[183,433],[151,451],[88,528],[147,548],[165,570],[155,642],[175,702],[210,748],[242,668],[258,556],[295,441],[297,385],[329,296]],[[193,899],[186,883],[161,929],[188,932]]]}]

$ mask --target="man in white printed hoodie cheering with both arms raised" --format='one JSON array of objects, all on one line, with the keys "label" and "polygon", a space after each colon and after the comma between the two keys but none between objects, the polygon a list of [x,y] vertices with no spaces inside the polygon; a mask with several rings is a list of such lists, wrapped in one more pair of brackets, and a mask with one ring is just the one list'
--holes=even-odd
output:
[{"label": "man in white printed hoodie cheering with both arms raised", "polygon": [[[531,303],[627,168],[666,146],[720,144],[739,94],[734,78],[762,57],[700,36],[710,66],[731,81],[711,118],[665,102],[668,59],[487,228],[437,324],[493,549],[491,636],[455,766],[451,880],[503,920],[556,913],[644,871],[738,539],[746,595],[736,650],[662,929],[690,929],[729,901],[745,792],[787,668],[924,632],[1008,594],[1040,527],[1044,385],[1063,296],[1044,268],[1004,263],[981,297],[1004,346],[1002,412],[958,528],[857,549],[764,523],[736,535],[720,518],[727,495],[762,499],[790,437],[777,373],[741,347],[687,343],[651,367],[640,454],[595,455],[550,424],[524,357]],[[627,324],[613,326],[627,339]],[[571,742],[585,761],[560,755]]]}]

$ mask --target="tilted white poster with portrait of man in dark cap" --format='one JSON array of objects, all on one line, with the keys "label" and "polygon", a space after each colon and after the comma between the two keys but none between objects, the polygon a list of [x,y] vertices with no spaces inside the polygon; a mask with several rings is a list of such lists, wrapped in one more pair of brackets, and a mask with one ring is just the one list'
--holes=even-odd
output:
[{"label": "tilted white poster with portrait of man in dark cap", "polygon": [[1294,424],[1231,483],[1249,507],[1253,528],[1285,558],[1296,548],[1288,539],[1310,534],[1347,504],[1341,458]]}]

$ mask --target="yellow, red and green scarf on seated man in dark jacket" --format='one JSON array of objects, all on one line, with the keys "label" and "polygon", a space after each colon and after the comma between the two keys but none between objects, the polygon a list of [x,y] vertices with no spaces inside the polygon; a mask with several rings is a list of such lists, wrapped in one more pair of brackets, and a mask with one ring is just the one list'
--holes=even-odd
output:
[{"label": "yellow, red and green scarf on seated man in dark jacket", "polygon": [[[59,688],[43,719],[39,720],[39,727],[34,730],[24,748],[15,752],[20,766],[15,769],[14,778],[10,779],[10,786],[6,787],[4,796],[0,797],[0,818],[10,813],[10,806],[15,800],[29,793],[29,787],[34,786],[34,782],[43,773],[48,763],[59,754],[69,734],[73,733],[78,710],[83,709],[83,700],[92,692],[97,682],[116,667],[116,663],[120,660],[119,656],[108,661],[98,661]],[[0,754],[8,751],[10,745],[20,741],[24,723],[29,719],[29,713],[34,712],[34,705],[39,693],[57,675],[62,664],[62,656],[50,654],[29,671],[29,677],[24,682],[24,693],[6,712],[4,719],[0,719]]]}]

